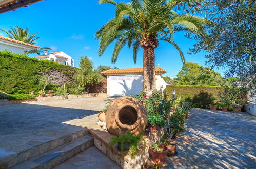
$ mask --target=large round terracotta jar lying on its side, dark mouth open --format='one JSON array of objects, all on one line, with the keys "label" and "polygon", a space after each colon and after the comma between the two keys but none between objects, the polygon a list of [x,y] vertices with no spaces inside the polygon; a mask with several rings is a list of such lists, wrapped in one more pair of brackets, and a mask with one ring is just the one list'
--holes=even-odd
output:
[{"label": "large round terracotta jar lying on its side, dark mouth open", "polygon": [[106,113],[106,126],[112,135],[132,132],[139,134],[146,128],[147,112],[139,100],[121,97],[112,102]]}]

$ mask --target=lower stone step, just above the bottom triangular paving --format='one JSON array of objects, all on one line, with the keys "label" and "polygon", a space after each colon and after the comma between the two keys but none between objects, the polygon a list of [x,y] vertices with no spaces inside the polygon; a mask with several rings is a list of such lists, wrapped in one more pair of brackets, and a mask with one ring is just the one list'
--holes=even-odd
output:
[{"label": "lower stone step, just above the bottom triangular paving", "polygon": [[91,146],[93,146],[93,138],[91,135],[86,135],[72,140],[64,145],[58,146],[40,156],[19,163],[11,168],[53,168],[54,166],[63,163],[65,160],[88,149]]}]

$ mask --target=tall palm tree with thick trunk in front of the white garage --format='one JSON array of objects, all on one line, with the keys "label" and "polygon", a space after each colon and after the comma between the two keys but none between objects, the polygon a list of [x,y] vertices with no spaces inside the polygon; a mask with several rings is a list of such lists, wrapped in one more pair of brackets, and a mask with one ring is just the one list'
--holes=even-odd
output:
[{"label": "tall palm tree with thick trunk in front of the white garage", "polygon": [[142,48],[144,91],[151,95],[155,89],[155,54],[159,40],[167,41],[180,53],[183,64],[184,54],[173,41],[175,31],[202,32],[204,19],[201,17],[178,14],[172,9],[176,1],[166,0],[131,0],[129,3],[117,3],[114,0],[100,0],[99,4],[111,3],[116,6],[114,19],[109,20],[96,32],[100,39],[99,56],[116,41],[112,54],[112,63],[116,62],[121,49],[127,44],[133,48],[133,61]]}]

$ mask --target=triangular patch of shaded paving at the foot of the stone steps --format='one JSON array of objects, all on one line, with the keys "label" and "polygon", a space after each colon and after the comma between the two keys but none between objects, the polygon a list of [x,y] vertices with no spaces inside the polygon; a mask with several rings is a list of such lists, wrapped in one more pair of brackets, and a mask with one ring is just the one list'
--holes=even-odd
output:
[{"label": "triangular patch of shaded paving at the foot of the stone steps", "polygon": [[90,147],[64,163],[56,166],[54,169],[69,169],[69,168],[120,168],[115,162],[108,158],[105,154],[99,151],[95,146]]}]

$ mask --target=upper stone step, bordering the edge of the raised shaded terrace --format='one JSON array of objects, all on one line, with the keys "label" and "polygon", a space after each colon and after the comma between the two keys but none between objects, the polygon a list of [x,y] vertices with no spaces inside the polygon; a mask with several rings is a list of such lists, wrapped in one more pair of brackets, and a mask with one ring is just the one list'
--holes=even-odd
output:
[{"label": "upper stone step, bordering the edge of the raised shaded terrace", "polygon": [[88,133],[89,133],[88,129],[82,129],[82,130],[64,135],[62,137],[58,137],[53,140],[44,142],[42,144],[35,145],[30,149],[25,149],[20,152],[13,152],[6,155],[2,155],[0,156],[1,157],[0,168],[2,165],[5,167],[11,167],[16,164],[22,163],[26,160],[29,160],[31,158],[40,156],[45,152],[55,149],[56,147],[66,144],[74,139],[83,137]]}]

